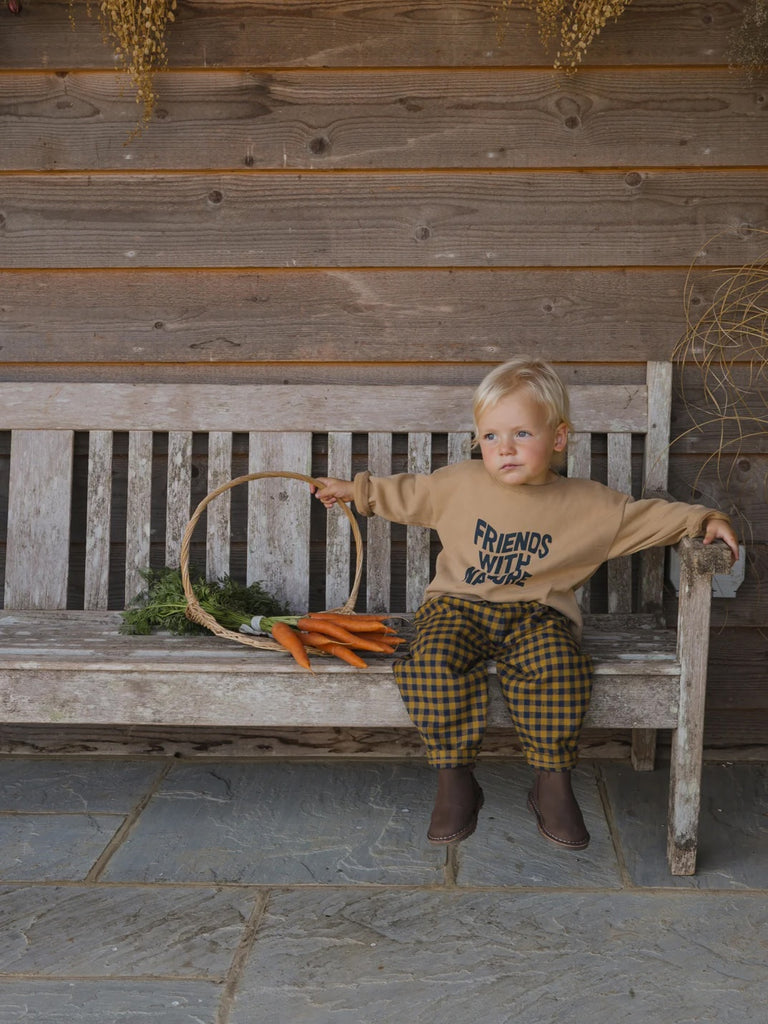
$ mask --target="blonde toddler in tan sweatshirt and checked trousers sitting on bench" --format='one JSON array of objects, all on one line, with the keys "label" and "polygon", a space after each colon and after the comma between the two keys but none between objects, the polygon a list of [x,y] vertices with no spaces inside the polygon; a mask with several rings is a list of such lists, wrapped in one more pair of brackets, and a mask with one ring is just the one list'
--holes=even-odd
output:
[{"label": "blonde toddler in tan sweatshirt and checked trousers sitting on bench", "polygon": [[326,507],[353,501],[362,515],[430,526],[442,550],[416,638],[394,663],[409,715],[437,768],[431,843],[471,836],[482,807],[473,767],[485,727],[487,670],[497,673],[523,753],[535,769],[527,804],[539,831],[558,846],[590,841],[570,771],[592,687],[580,647],[574,590],[607,559],[703,535],[738,543],[728,517],[700,505],[635,501],[592,480],[552,469],[563,458],[569,411],[565,387],[540,359],[497,367],[473,403],[482,460],[429,475],[354,481],[321,477]]}]

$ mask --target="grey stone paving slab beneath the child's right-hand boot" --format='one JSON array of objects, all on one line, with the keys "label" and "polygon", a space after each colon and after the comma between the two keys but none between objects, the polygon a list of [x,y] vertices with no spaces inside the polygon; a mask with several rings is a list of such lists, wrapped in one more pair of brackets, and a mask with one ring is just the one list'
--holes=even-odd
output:
[{"label": "grey stone paving slab beneath the child's right-hand boot", "polygon": [[477,831],[457,848],[460,886],[603,886],[622,881],[591,768],[573,772],[573,791],[592,840],[586,850],[561,850],[539,835],[526,807],[532,781],[523,764],[483,763],[477,780],[485,795]]}]

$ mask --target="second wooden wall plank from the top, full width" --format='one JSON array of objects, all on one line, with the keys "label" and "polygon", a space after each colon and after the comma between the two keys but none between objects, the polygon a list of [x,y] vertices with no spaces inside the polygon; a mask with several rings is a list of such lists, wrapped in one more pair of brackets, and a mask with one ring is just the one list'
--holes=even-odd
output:
[{"label": "second wooden wall plank from the top, full width", "polygon": [[25,116],[5,127],[2,170],[736,166],[744,137],[751,162],[768,163],[754,86],[725,69],[168,73],[157,89],[173,131],[152,145],[130,138],[120,74],[3,84]]}]

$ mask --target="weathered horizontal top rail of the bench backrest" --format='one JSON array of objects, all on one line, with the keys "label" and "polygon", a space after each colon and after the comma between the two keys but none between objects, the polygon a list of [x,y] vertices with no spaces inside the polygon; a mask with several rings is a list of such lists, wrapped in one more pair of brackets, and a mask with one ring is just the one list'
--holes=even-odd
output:
[{"label": "weathered horizontal top rail of the bench backrest", "polygon": [[[0,382],[0,420],[14,429],[229,431],[469,431],[473,386],[416,384],[57,384]],[[225,394],[226,398],[223,399]],[[386,402],[382,398],[386,394]],[[644,386],[569,388],[575,429],[647,425]],[[109,403],[109,404],[108,404]],[[204,426],[205,425],[205,426]]]}]

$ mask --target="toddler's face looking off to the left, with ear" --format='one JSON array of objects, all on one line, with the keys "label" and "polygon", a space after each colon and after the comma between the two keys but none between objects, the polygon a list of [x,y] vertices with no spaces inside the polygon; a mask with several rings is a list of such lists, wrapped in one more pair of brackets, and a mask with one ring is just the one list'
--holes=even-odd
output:
[{"label": "toddler's face looking off to the left, with ear", "polygon": [[485,469],[499,483],[547,483],[550,463],[568,439],[564,423],[550,426],[546,411],[525,388],[506,395],[477,420]]}]

